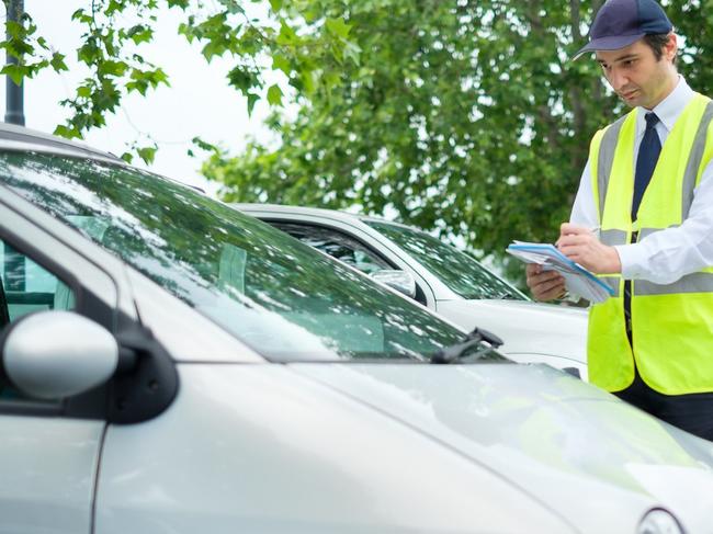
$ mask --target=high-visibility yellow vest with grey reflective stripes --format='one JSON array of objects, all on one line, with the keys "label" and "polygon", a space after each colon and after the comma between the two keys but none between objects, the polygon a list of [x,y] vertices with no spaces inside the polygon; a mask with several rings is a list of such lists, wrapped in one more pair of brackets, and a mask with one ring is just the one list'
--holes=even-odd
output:
[{"label": "high-visibility yellow vest with grey reflective stripes", "polygon": [[[632,242],[687,217],[693,190],[713,158],[713,102],[695,94],[669,136],[644,193],[637,220],[631,219],[634,193],[634,109],[599,130],[591,143],[595,204],[606,245]],[[633,350],[624,323],[624,281],[606,275],[614,297],[592,306],[587,342],[589,378],[619,391],[634,379],[666,395],[713,391],[713,268],[672,284],[634,280],[631,298]]]}]

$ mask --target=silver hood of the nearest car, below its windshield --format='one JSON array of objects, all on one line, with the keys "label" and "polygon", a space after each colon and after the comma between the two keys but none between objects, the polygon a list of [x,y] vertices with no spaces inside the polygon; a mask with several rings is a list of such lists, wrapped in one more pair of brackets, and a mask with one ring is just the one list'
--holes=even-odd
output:
[{"label": "silver hood of the nearest car, below its windshield", "polygon": [[634,533],[656,507],[688,532],[713,532],[713,444],[546,365],[291,367],[494,469],[574,524],[587,518],[582,532]]}]

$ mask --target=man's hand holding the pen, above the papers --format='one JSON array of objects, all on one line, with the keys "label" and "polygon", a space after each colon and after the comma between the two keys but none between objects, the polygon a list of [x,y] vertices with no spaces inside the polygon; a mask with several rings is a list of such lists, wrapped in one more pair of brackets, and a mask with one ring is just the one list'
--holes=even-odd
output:
[{"label": "man's hand holding the pen, above the papers", "polygon": [[564,223],[559,227],[557,248],[567,258],[592,273],[621,272],[621,260],[616,249],[603,245],[589,228]]}]

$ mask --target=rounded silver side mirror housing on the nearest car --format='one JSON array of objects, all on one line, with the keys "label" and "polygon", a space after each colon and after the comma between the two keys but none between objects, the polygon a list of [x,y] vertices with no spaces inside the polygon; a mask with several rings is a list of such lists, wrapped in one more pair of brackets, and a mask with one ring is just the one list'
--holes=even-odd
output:
[{"label": "rounded silver side mirror housing on the nearest car", "polygon": [[88,391],[106,382],[118,363],[118,344],[109,330],[71,311],[20,319],[0,350],[13,385],[46,400]]}]

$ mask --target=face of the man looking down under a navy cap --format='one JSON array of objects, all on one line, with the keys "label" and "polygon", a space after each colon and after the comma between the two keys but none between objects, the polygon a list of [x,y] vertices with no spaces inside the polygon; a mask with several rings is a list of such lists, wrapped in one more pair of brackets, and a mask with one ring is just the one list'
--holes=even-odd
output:
[{"label": "face of the man looking down under a navy cap", "polygon": [[599,50],[597,60],[609,84],[626,105],[653,110],[676,86],[676,36],[671,36],[657,60],[643,41],[619,50]]}]

